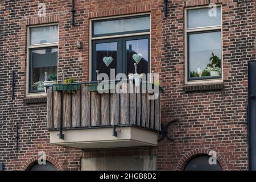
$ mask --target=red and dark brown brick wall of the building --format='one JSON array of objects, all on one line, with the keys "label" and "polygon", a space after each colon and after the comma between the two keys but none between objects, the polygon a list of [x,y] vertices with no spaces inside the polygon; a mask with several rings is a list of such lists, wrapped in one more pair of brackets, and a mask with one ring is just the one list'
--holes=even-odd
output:
[{"label": "red and dark brown brick wall of the building", "polygon": [[[39,17],[39,3],[46,16]],[[185,82],[185,15],[190,7],[216,3],[222,7],[222,80]],[[199,154],[217,152],[224,170],[248,169],[246,131],[247,61],[255,60],[254,0],[75,0],[75,26],[71,1],[1,1],[0,52],[0,162],[5,170],[26,170],[45,151],[58,170],[80,170],[81,158],[157,155],[157,169],[182,170]],[[89,80],[90,24],[93,18],[150,13],[151,71],[163,86],[162,123],[167,139],[157,147],[85,149],[49,143],[46,96],[27,96],[27,27],[59,25],[58,79],[61,73],[77,81]],[[82,49],[77,49],[77,40]],[[15,72],[14,100],[11,75]],[[19,127],[16,150],[16,122]]]}]

